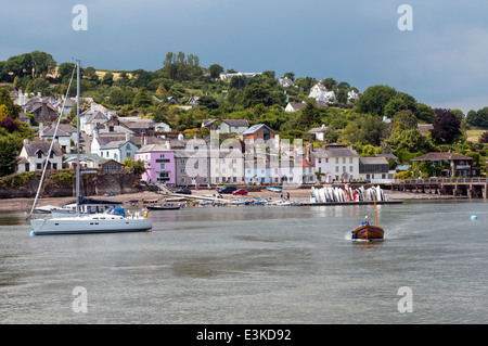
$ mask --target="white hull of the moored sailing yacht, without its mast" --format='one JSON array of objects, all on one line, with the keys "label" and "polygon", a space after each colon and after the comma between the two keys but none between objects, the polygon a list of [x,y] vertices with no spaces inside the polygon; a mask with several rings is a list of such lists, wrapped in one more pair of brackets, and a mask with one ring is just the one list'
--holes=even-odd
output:
[{"label": "white hull of the moored sailing yacht, without its mast", "polygon": [[31,219],[30,225],[34,229],[30,232],[31,235],[142,232],[152,228],[146,218],[124,218],[119,216]]}]

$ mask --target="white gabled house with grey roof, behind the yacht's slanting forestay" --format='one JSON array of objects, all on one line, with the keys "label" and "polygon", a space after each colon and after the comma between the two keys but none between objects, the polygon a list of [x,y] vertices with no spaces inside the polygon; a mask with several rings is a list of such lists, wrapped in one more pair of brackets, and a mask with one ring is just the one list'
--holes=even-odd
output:
[{"label": "white gabled house with grey roof, behind the yacht's slanting forestay", "polygon": [[48,159],[51,142],[24,140],[16,162],[15,172],[42,170],[46,162],[48,169],[63,168],[63,152],[59,143],[54,143]]}]

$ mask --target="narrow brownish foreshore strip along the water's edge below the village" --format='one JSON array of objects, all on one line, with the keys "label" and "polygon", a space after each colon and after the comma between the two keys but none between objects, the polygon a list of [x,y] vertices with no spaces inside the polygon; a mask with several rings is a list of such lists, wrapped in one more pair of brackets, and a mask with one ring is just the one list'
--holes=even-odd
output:
[{"label": "narrow brownish foreshore strip along the water's edge below the village", "polygon": [[[291,189],[283,190],[283,195],[286,196],[286,193],[290,192],[290,201],[293,202],[309,202],[310,201],[310,190],[309,189]],[[439,195],[439,194],[429,194],[429,193],[414,193],[414,192],[402,192],[402,191],[390,191],[384,190],[385,194],[389,195],[390,200],[452,200],[454,198],[451,195]],[[192,190],[193,195],[203,195],[203,194],[217,194],[216,190]],[[222,195],[224,198],[234,197],[231,194]],[[100,198],[106,201],[118,201],[118,202],[142,202],[147,200],[157,200],[163,198],[164,195],[159,195],[152,191],[145,191],[140,193],[128,193],[128,194],[118,194],[115,196],[88,196],[91,198]],[[281,193],[271,192],[268,190],[262,190],[258,192],[249,192],[246,196],[235,196],[237,198],[251,197],[251,198],[266,198],[278,201],[281,198]],[[459,198],[459,197],[458,197]],[[65,204],[74,203],[75,197],[47,197],[47,198],[38,198],[36,206],[44,206],[44,205],[55,205],[63,206]],[[34,198],[5,198],[0,200],[0,212],[30,212],[33,207]]]}]

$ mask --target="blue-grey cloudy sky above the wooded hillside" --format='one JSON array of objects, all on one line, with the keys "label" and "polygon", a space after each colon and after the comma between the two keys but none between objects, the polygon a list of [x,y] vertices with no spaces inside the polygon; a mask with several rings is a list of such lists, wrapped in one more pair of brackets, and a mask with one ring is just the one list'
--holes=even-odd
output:
[{"label": "blue-grey cloudy sky above the wooded hillside", "polygon": [[[73,25],[77,4],[86,30]],[[155,71],[181,51],[203,67],[388,85],[466,114],[488,106],[487,14],[486,0],[0,0],[0,61],[40,50],[59,64]]]}]

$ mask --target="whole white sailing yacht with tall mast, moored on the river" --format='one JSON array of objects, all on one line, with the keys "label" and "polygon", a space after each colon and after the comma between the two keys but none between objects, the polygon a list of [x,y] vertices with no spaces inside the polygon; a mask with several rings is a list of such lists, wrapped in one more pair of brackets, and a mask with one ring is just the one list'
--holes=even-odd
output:
[{"label": "whole white sailing yacht with tall mast, moored on the river", "polygon": [[[80,190],[80,167],[79,167],[79,61],[76,61],[77,69],[77,136],[78,136],[78,153],[76,165],[76,216],[30,219],[33,227],[31,235],[43,234],[74,234],[74,233],[118,233],[118,232],[142,232],[152,229],[151,222],[147,220],[147,213],[142,215],[137,213],[126,215],[124,208],[114,207],[98,214],[80,214],[79,208],[79,190]],[[60,116],[61,118],[61,116]],[[57,129],[57,128],[56,128]],[[55,133],[54,133],[55,138]],[[49,157],[49,155],[48,155]],[[46,164],[47,166],[47,164]],[[42,175],[43,178],[43,175]],[[36,205],[42,178],[39,183],[38,194],[34,202],[33,210]],[[33,212],[31,212],[33,213]],[[31,213],[28,218],[30,218]]]}]

